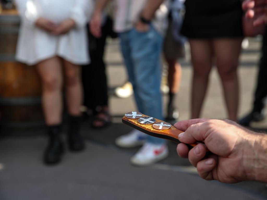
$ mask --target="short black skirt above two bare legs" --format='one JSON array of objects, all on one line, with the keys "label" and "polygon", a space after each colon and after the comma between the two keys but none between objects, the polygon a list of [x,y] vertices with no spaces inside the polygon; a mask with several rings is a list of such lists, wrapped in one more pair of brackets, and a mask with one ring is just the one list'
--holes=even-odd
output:
[{"label": "short black skirt above two bare legs", "polygon": [[182,34],[187,38],[243,36],[240,0],[186,0]]}]

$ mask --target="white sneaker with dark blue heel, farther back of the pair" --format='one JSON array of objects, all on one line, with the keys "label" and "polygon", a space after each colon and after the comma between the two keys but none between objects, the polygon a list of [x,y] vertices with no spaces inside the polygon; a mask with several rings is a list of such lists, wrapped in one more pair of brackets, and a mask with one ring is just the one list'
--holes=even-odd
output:
[{"label": "white sneaker with dark blue heel, farther back of the pair", "polygon": [[147,140],[148,135],[143,132],[133,129],[126,135],[121,135],[115,140],[115,144],[119,147],[130,148],[143,145]]}]

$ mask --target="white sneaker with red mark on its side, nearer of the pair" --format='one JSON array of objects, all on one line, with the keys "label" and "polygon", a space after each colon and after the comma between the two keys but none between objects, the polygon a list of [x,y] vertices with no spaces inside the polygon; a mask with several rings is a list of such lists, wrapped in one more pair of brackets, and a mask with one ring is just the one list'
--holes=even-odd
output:
[{"label": "white sneaker with red mark on its side, nearer of the pair", "polygon": [[169,150],[165,143],[158,145],[146,142],[131,158],[131,163],[138,166],[151,165],[166,158],[168,154]]}]

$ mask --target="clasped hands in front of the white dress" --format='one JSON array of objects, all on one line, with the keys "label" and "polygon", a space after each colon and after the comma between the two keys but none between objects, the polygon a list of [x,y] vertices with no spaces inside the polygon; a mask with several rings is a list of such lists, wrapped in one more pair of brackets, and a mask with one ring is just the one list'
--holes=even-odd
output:
[{"label": "clasped hands in front of the white dress", "polygon": [[46,18],[38,18],[35,25],[40,29],[43,29],[53,35],[62,35],[68,33],[72,28],[75,27],[73,19],[66,19],[59,24]]}]

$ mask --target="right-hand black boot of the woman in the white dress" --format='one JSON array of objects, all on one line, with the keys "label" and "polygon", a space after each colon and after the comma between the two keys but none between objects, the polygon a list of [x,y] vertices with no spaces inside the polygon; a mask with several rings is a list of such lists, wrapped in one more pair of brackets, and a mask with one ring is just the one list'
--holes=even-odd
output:
[{"label": "right-hand black boot of the woman in the white dress", "polygon": [[80,121],[79,116],[69,117],[69,149],[72,151],[81,151],[84,149],[83,137],[80,134]]}]

